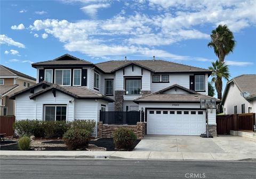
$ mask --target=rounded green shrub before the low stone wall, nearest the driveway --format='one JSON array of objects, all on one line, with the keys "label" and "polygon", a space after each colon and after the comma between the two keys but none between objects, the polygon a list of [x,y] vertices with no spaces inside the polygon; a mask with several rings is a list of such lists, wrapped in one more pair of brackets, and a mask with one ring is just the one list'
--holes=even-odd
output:
[{"label": "rounded green shrub before the low stone wall, nearest the driveway", "polygon": [[118,128],[113,133],[115,147],[117,149],[131,150],[137,136],[130,128]]}]

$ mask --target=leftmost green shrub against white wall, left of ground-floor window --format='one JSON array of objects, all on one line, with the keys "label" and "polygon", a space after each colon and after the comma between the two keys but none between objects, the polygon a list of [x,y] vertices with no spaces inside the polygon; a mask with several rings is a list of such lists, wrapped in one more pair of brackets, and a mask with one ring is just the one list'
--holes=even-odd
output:
[{"label": "leftmost green shrub against white wall, left of ground-floor window", "polygon": [[16,120],[13,124],[13,128],[19,137],[30,137],[40,132],[40,130],[38,130],[40,125],[41,121],[39,120]]}]

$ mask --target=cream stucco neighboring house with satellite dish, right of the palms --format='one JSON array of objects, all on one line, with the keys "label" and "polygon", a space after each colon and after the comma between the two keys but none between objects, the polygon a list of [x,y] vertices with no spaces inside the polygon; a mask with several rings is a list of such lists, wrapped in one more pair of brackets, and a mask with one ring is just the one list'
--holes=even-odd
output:
[{"label": "cream stucco neighboring house with satellite dish, right of the palms", "polygon": [[222,97],[225,114],[256,112],[256,74],[228,81]]}]

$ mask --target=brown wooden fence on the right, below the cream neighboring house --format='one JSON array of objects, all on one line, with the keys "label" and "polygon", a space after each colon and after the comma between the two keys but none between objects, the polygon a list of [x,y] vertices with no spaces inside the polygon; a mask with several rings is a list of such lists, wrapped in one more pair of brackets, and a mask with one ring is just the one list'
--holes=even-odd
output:
[{"label": "brown wooden fence on the right, below the cream neighboring house", "polygon": [[217,134],[229,134],[230,130],[253,131],[255,113],[242,113],[234,115],[217,115]]}]

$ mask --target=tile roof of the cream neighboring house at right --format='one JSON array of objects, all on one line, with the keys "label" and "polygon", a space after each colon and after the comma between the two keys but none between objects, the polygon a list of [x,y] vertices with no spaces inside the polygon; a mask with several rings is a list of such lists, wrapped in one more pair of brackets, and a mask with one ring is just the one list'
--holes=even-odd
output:
[{"label": "tile roof of the cream neighboring house at right", "polygon": [[228,88],[231,82],[234,82],[236,84],[239,91],[250,93],[250,96],[247,96],[246,99],[254,99],[254,97],[256,96],[256,74],[239,75],[237,77],[230,79],[227,82],[227,85],[222,97],[222,103],[224,103],[226,100]]}]

